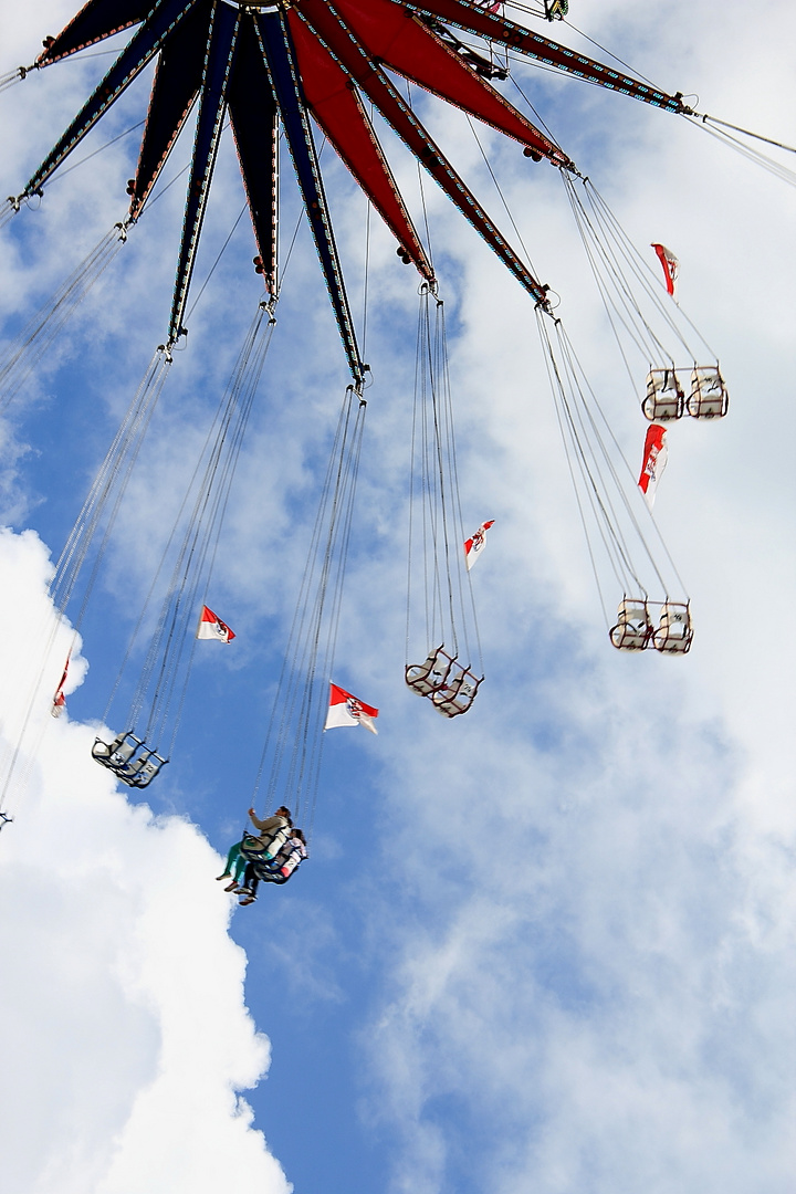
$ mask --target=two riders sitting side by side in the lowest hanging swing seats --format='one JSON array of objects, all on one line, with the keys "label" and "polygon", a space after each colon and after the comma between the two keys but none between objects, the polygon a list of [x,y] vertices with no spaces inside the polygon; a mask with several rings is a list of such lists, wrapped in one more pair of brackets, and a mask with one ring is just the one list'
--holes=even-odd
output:
[{"label": "two riders sitting side by side in the lowest hanging swing seats", "polygon": [[224,891],[242,896],[241,905],[254,903],[260,881],[286,884],[307,857],[304,835],[294,829],[290,810],[284,805],[265,820],[260,820],[253,808],[248,814],[259,833],[245,833],[227,855],[223,873],[216,876],[217,880],[232,879]]}]

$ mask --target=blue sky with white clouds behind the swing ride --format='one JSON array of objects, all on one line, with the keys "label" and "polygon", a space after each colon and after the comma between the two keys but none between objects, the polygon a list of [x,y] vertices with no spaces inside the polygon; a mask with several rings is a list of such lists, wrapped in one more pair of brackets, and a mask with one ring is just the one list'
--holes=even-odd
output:
[{"label": "blue sky with white clouds behind the swing ride", "polygon": [[[640,73],[698,91],[701,111],[796,142],[784,2],[755,20],[740,0],[570,7]],[[4,69],[32,60],[72,14],[62,0],[0,12]],[[106,61],[63,63],[0,98],[4,193],[21,187]],[[172,187],[2,427],[6,762],[19,694],[36,684],[43,710],[0,837],[0,931],[16,960],[1,997],[13,1030],[0,1131],[14,1188],[790,1188],[794,191],[623,97],[530,68],[520,82],[640,248],[677,252],[680,301],[728,378],[722,424],[673,430],[656,504],[693,602],[693,651],[610,648],[530,301],[426,183],[464,518],[471,529],[495,518],[473,573],[487,679],[455,722],[402,681],[416,295],[375,227],[375,383],[335,679],[380,706],[380,737],[328,736],[310,862],[254,907],[229,905],[212,850],[237,838],[251,799],[347,381],[306,229],[212,587],[237,638],[203,645],[173,761],[146,804],[115,792],[88,749],[259,297],[246,219],[163,392],[81,627],[88,670],[68,719],[47,716],[67,627],[39,673],[47,555],[163,338],[183,202]],[[146,93],[132,88],[88,148],[140,119]],[[426,116],[501,219],[467,124],[437,104]],[[643,423],[563,189],[516,147],[485,143],[617,436],[640,456]],[[416,173],[385,144],[419,219]],[[177,147],[166,178],[186,153]],[[8,340],[121,217],[134,158],[135,135],[4,229]],[[329,150],[323,161],[359,313],[364,203]],[[226,143],[199,285],[242,202]],[[288,178],[288,238],[296,210]]]}]

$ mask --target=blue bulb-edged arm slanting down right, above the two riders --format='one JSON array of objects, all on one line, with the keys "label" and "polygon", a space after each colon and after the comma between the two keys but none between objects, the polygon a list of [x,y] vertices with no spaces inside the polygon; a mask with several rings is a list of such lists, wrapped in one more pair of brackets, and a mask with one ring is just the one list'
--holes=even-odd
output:
[{"label": "blue bulb-edged arm slanting down right, above the two riders", "polygon": [[273,13],[258,12],[255,23],[271,78],[271,86],[279,105],[282,127],[290,147],[294,166],[296,167],[307,217],[313,229],[313,236],[315,238],[317,256],[321,259],[321,267],[334,309],[334,316],[343,339],[343,346],[348,358],[348,368],[354,383],[359,386],[364,378],[365,370],[357,346],[348,297],[343,281],[343,271],[332,232],[332,221],[317,164],[313,130],[307,116],[307,105],[288,21],[285,14],[279,11]]}]

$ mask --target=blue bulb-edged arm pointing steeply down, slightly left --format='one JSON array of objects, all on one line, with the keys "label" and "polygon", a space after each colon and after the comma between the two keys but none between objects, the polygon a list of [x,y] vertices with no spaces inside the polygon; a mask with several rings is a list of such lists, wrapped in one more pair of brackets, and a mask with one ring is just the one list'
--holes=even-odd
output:
[{"label": "blue bulb-edged arm pointing steeply down, slightly left", "polygon": [[230,8],[229,5],[220,2],[214,4],[202,76],[202,101],[196,123],[180,256],[177,263],[174,298],[168,325],[168,339],[172,344],[185,331],[183,316],[185,315],[196,250],[208,205],[212,171],[216,165],[239,25],[239,8]]}]

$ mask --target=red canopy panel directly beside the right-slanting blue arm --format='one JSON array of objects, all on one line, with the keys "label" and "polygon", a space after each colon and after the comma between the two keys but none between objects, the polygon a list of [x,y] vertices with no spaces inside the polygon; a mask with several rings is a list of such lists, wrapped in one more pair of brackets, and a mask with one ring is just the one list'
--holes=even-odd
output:
[{"label": "red canopy panel directly beside the right-slanting blue arm", "polygon": [[288,21],[313,116],[401,247],[431,281],[433,269],[350,76],[292,8],[288,10]]}]

